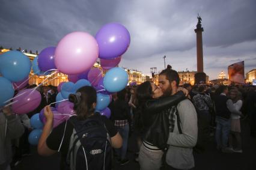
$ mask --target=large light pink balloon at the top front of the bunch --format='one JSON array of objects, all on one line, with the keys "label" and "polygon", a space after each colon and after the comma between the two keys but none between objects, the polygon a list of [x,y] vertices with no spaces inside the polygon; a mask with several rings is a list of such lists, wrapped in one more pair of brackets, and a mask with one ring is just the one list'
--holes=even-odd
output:
[{"label": "large light pink balloon at the top front of the bunch", "polygon": [[72,32],[63,37],[55,50],[56,68],[64,74],[79,74],[96,62],[99,46],[87,32]]}]

